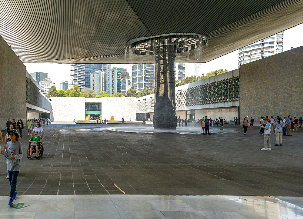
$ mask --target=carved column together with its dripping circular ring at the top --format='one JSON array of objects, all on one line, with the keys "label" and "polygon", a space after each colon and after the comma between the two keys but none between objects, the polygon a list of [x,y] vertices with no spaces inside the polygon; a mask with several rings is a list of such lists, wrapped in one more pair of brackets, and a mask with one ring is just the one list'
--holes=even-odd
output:
[{"label": "carved column together with its dripping circular ring at the top", "polygon": [[[176,95],[175,95],[175,58],[177,53],[181,57],[201,55],[206,45],[207,37],[195,33],[163,34],[151,37],[136,38],[126,43],[127,53],[135,54],[135,58],[142,55],[153,55],[155,58],[155,114],[154,129],[171,129],[177,127]],[[138,61],[141,63],[141,61]]]}]

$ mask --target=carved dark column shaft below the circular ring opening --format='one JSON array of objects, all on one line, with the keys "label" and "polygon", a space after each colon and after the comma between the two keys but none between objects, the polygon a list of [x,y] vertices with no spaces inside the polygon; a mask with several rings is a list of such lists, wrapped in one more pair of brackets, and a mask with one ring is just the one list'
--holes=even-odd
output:
[{"label": "carved dark column shaft below the circular ring opening", "polygon": [[153,48],[155,57],[155,129],[172,129],[177,126],[175,102],[175,58],[177,45],[160,45]]}]

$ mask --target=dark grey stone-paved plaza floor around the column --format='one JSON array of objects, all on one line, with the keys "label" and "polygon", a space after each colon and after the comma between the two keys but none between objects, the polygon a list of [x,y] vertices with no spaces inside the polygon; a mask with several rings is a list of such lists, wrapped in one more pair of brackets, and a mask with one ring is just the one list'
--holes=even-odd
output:
[{"label": "dark grey stone-paved plaza floor around the column", "polygon": [[[26,158],[24,129],[18,195],[303,196],[302,129],[283,136],[283,146],[274,146],[272,133],[271,151],[260,150],[258,126],[247,135],[239,125],[211,128],[218,133],[212,135],[145,133],[151,124],[52,123],[43,129],[41,160]],[[0,195],[6,196],[10,186],[3,157]]]}]

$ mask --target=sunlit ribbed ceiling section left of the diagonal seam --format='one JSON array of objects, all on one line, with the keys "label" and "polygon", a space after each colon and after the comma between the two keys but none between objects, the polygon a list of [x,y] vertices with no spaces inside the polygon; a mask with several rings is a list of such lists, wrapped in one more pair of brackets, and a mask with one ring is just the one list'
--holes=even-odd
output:
[{"label": "sunlit ribbed ceiling section left of the diagonal seam", "polygon": [[0,35],[24,62],[121,54],[150,36],[124,0],[5,0],[0,10]]}]

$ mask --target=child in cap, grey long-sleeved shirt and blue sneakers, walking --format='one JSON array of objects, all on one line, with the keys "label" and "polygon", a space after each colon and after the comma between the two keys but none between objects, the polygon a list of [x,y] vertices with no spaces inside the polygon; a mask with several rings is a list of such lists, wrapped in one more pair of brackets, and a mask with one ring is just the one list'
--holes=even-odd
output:
[{"label": "child in cap, grey long-sleeved shirt and blue sneakers, walking", "polygon": [[23,157],[22,144],[18,141],[19,134],[16,129],[9,130],[7,132],[9,138],[5,148],[5,151],[0,151],[5,157],[9,158],[7,161],[7,170],[9,174],[9,183],[11,185],[10,199],[8,204],[13,205],[13,201],[17,197],[17,178],[20,171],[20,159]]}]

